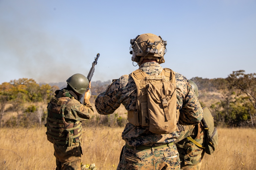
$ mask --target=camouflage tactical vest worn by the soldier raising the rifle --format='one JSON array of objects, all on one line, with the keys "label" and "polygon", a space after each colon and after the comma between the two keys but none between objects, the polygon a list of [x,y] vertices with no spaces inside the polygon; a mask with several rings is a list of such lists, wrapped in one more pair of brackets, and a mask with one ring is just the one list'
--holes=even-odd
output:
[{"label": "camouflage tactical vest worn by the soldier raising the rifle", "polygon": [[64,118],[65,107],[72,99],[74,98],[54,96],[47,106],[47,139],[59,146],[72,146],[81,141],[82,123],[75,120],[68,123]]}]

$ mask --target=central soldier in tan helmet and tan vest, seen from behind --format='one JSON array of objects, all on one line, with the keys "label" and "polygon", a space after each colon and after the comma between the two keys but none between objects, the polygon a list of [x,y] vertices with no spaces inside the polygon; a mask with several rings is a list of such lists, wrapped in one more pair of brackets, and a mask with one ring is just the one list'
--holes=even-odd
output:
[{"label": "central soldier in tan helmet and tan vest, seen from behind", "polygon": [[[174,141],[180,135],[180,130],[176,126],[177,120],[179,119],[179,123],[183,125],[197,124],[202,119],[202,108],[188,80],[170,69],[164,71],[159,65],[164,62],[166,41],[154,34],[142,34],[132,39],[130,43],[132,47],[130,54],[133,54],[132,61],[138,63],[139,69],[132,74],[123,75],[119,79],[113,80],[106,91],[95,100],[95,107],[99,114],[112,114],[121,103],[128,112],[129,123],[126,124],[122,133],[126,144],[122,149],[117,169],[180,169],[179,154],[174,145]],[[165,76],[162,75],[164,73]],[[173,74],[175,76],[170,76]],[[144,77],[140,79],[141,82],[144,81],[144,84],[135,83],[138,81],[137,78],[135,80],[135,77],[138,75]],[[147,75],[146,78],[145,75]],[[145,95],[145,91],[143,92],[144,89],[149,90],[146,87],[150,85],[153,87],[155,84],[151,82],[155,81],[156,85],[162,83],[161,87],[164,89],[160,92],[158,87],[152,88],[161,93],[152,95],[157,95],[158,99],[159,95],[162,95],[160,97],[162,101],[159,105],[157,104],[158,109],[160,108],[158,114],[147,109],[147,107],[151,107],[151,105],[147,105],[151,101],[146,99],[150,96]],[[166,84],[170,86],[166,87]],[[174,90],[169,90],[169,88]],[[168,90],[176,95],[174,97],[167,96],[166,91]],[[137,93],[137,91],[140,92]],[[168,105],[171,100],[173,101],[172,105]],[[142,106],[142,103],[146,104]],[[153,109],[157,109],[154,103],[152,105],[154,105]],[[167,105],[168,107],[166,107]],[[169,107],[174,110],[170,111]],[[152,118],[158,115],[165,120],[159,121],[160,123],[172,121],[169,117],[173,118],[173,122],[170,123],[173,126],[168,126],[171,130],[165,132],[166,134],[153,133],[154,130],[150,129],[151,127],[155,128],[152,122],[157,124],[158,121]]]}]

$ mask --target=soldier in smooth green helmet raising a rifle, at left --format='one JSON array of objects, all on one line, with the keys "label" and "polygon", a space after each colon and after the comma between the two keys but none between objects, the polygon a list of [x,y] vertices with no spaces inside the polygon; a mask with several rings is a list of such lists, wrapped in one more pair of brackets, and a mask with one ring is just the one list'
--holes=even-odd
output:
[{"label": "soldier in smooth green helmet raising a rifle, at left", "polygon": [[[74,74],[67,84],[66,88],[55,91],[47,106],[46,134],[54,144],[56,170],[81,169],[81,121],[93,115],[88,79],[82,74]],[[80,103],[84,92],[84,102]]]}]

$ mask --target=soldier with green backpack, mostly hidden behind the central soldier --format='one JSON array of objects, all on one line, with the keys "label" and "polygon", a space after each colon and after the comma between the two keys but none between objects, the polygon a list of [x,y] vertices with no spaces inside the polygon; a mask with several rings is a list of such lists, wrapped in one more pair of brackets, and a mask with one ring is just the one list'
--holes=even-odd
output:
[{"label": "soldier with green backpack, mostly hidden behind the central soldier", "polygon": [[[188,80],[196,96],[199,96],[195,82]],[[218,146],[217,129],[214,127],[213,117],[208,108],[203,107],[203,119],[196,125],[182,126],[182,132],[175,141],[180,157],[182,170],[200,170],[204,154],[212,154]],[[215,130],[215,131],[214,131]],[[214,142],[209,141],[214,137]],[[208,147],[207,147],[208,146]],[[209,151],[208,148],[212,150]]]}]

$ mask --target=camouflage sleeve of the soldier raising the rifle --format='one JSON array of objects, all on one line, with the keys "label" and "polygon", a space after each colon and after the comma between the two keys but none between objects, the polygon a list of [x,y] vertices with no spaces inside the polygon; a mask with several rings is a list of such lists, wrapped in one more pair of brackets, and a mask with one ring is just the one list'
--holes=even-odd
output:
[{"label": "camouflage sleeve of the soldier raising the rifle", "polygon": [[[72,103],[71,103],[72,102]],[[84,104],[81,104],[78,100],[72,100],[69,105],[69,119],[84,121],[88,120],[93,115],[93,108],[88,99],[85,100]]]}]

